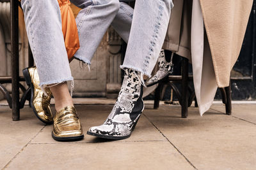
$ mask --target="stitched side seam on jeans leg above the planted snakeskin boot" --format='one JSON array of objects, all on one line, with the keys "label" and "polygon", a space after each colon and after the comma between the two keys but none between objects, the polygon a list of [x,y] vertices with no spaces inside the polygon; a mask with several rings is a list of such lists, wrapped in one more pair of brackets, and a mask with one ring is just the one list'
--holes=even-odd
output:
[{"label": "stitched side seam on jeans leg above the planted snakeskin boot", "polygon": [[[161,0],[162,2],[164,2],[164,0]],[[159,27],[160,27],[160,21],[161,21],[161,17],[163,16],[163,5],[162,4],[159,4],[159,15],[158,17],[156,18],[156,25],[154,25],[154,34],[152,35],[152,40],[150,41],[150,45],[148,46],[149,47],[149,52],[148,52],[148,55],[144,58],[144,62],[143,62],[143,72],[146,72],[146,70],[148,69],[149,67],[149,60],[151,59],[152,57],[152,53],[154,52],[154,46],[156,45],[156,41],[157,41],[157,38],[158,38],[158,33],[159,33]]]}]

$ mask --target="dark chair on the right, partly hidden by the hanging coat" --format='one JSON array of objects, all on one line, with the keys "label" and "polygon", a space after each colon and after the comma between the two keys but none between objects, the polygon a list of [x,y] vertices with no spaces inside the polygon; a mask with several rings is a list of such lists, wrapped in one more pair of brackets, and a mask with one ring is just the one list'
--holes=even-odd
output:
[{"label": "dark chair on the right, partly hidden by the hanging coat", "polygon": [[[163,90],[163,86],[165,84],[168,84],[173,89],[173,92],[175,92],[178,98],[178,101],[181,105],[181,117],[182,118],[188,117],[188,107],[191,106],[193,100],[195,99],[195,90],[192,90],[191,87],[189,87],[189,81],[193,81],[193,76],[189,76],[188,66],[189,66],[189,60],[182,57],[181,75],[180,76],[170,75],[163,81],[159,82],[159,86],[156,89],[156,93],[154,97],[154,109],[159,108],[159,101],[161,98],[161,92]],[[174,82],[181,83],[181,92],[177,88],[177,86],[173,84]],[[231,88],[230,86],[225,88],[220,88],[220,91],[222,96],[222,102],[223,104],[225,104],[225,107],[226,107],[226,114],[231,115],[232,113]],[[196,100],[195,100],[195,106],[197,106]]]}]

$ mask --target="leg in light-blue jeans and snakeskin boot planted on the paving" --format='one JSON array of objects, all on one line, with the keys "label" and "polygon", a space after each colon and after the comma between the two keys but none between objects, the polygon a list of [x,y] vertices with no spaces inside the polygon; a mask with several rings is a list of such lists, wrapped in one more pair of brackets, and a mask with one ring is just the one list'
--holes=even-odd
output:
[{"label": "leg in light-blue jeans and snakeskin boot planted on the paving", "polygon": [[172,0],[136,1],[127,52],[124,81],[116,104],[104,124],[91,127],[90,135],[108,139],[131,136],[144,104],[143,75],[150,76],[166,35]]}]

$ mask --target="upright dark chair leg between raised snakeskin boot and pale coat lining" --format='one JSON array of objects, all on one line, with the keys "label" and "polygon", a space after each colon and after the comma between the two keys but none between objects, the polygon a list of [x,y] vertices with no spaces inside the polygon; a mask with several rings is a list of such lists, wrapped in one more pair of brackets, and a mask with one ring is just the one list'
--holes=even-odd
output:
[{"label": "upright dark chair leg between raised snakeskin boot and pale coat lining", "polygon": [[188,59],[182,59],[182,103],[181,103],[181,117],[188,117]]}]

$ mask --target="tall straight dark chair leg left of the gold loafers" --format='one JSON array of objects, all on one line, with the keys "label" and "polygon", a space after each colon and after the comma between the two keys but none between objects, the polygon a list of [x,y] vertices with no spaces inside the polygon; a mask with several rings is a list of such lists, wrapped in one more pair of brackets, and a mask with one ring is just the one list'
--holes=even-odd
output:
[{"label": "tall straight dark chair leg left of the gold loafers", "polygon": [[18,1],[11,0],[12,119],[20,119],[19,97],[19,13]]}]

